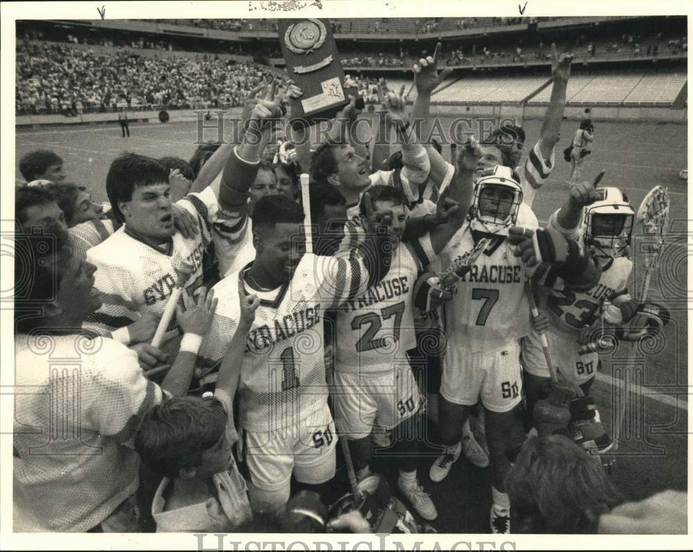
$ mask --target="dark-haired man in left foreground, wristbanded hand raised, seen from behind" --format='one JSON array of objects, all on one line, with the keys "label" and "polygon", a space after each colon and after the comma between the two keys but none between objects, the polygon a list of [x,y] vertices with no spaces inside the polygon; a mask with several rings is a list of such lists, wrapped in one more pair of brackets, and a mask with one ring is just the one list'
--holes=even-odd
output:
[{"label": "dark-haired man in left foreground, wristbanded hand raised, seen from behind", "polygon": [[96,267],[63,234],[17,233],[15,240],[28,253],[15,262],[15,281],[32,276],[15,294],[15,385],[32,391],[15,396],[13,528],[138,531],[134,429],[163,393],[188,390],[213,295],[202,292],[197,305],[179,310],[186,346],[159,387],[143,377],[132,350],[82,332],[101,303]]}]

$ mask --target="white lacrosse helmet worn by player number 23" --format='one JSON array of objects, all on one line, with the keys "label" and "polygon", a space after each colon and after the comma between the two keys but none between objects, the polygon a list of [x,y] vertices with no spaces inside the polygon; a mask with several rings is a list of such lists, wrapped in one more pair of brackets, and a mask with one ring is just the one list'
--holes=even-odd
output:
[{"label": "white lacrosse helmet worn by player number 23", "polygon": [[597,201],[584,208],[582,231],[585,247],[608,262],[626,255],[631,244],[635,212],[618,188],[597,188]]}]

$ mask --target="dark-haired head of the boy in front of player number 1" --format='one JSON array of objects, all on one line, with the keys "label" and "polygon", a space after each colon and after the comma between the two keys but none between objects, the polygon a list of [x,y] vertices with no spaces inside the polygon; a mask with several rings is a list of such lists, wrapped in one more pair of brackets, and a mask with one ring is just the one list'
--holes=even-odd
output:
[{"label": "dark-haired head of the boy in front of player number 1", "polygon": [[218,399],[173,397],[144,413],[134,436],[142,462],[164,477],[202,463],[202,453],[221,438],[229,416]]}]

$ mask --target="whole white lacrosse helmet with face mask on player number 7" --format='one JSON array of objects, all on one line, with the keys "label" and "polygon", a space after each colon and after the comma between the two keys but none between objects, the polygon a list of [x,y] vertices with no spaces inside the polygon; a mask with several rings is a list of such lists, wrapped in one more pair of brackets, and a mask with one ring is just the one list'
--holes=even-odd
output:
[{"label": "whole white lacrosse helmet with face mask on player number 7", "polygon": [[472,229],[507,235],[516,224],[523,193],[517,176],[503,166],[496,166],[492,175],[481,177],[474,187],[470,208]]}]

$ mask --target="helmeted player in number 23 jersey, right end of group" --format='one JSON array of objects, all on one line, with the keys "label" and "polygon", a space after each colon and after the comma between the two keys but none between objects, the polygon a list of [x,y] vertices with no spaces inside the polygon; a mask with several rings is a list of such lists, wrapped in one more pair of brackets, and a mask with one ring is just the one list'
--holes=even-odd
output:
[{"label": "helmeted player in number 23 jersey, right end of group", "polygon": [[[550,267],[534,278],[538,307],[549,320],[546,337],[552,362],[564,380],[579,385],[586,395],[571,405],[573,436],[586,449],[599,453],[611,449],[613,442],[602,427],[594,400],[588,397],[599,370],[599,355],[594,350],[586,352],[584,346],[602,337],[604,321],[627,323],[638,307],[626,288],[633,269],[629,245],[635,213],[618,188],[595,188],[602,175],[594,183],[578,184],[549,220],[550,227],[586,249],[601,269],[599,281],[588,290],[569,289],[564,277]],[[531,413],[549,379],[541,341],[534,332],[523,340],[523,365]]]}]

